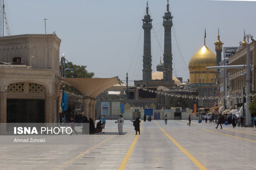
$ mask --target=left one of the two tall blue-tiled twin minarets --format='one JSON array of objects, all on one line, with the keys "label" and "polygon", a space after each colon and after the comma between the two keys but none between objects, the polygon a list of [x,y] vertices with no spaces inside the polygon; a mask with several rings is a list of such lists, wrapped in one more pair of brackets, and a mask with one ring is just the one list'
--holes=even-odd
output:
[{"label": "left one of the two tall blue-tiled twin minarets", "polygon": [[150,31],[152,29],[152,20],[150,19],[150,15],[148,14],[148,1],[146,5],[146,15],[144,16],[143,26],[144,29],[144,51],[143,51],[143,80],[151,80],[152,79],[152,69],[151,69],[151,34]]}]

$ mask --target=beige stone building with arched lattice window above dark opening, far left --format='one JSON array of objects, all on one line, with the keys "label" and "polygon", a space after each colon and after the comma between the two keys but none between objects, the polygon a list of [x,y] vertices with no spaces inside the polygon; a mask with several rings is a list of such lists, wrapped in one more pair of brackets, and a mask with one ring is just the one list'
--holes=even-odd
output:
[{"label": "beige stone building with arched lattice window above dark opening, far left", "polygon": [[0,123],[58,122],[60,42],[55,34],[0,38]]}]

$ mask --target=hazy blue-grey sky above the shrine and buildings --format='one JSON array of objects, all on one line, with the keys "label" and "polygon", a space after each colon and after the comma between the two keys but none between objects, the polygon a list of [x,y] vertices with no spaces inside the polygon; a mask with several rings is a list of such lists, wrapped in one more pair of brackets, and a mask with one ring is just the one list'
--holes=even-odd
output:
[{"label": "hazy blue-grey sky above the shrine and buildings", "polygon": [[[167,0],[148,1],[154,28],[152,68],[156,71],[164,47],[161,23]],[[43,19],[47,18],[47,33],[55,31],[62,39],[60,56],[65,53],[68,61],[87,66],[95,77],[118,76],[125,80],[129,70],[129,80],[142,79],[140,33],[146,0],[7,0],[6,4],[12,35],[44,34]],[[188,62],[203,46],[204,28],[206,46],[214,53],[218,28],[224,47],[239,46],[244,29],[256,38],[255,7],[256,2],[249,1],[170,0],[173,27],[186,63],[183,67],[172,32],[173,74],[188,78]]]}]

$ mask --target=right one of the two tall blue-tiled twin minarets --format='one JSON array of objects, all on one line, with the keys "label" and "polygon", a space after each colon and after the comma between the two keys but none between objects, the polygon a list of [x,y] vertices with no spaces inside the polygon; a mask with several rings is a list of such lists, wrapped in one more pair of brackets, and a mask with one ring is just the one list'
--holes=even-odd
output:
[{"label": "right one of the two tall blue-tiled twin minarets", "polygon": [[171,27],[172,27],[172,16],[169,11],[169,0],[167,0],[167,12],[164,15],[163,26],[165,29],[164,34],[164,81],[172,81],[172,49],[171,49]]}]

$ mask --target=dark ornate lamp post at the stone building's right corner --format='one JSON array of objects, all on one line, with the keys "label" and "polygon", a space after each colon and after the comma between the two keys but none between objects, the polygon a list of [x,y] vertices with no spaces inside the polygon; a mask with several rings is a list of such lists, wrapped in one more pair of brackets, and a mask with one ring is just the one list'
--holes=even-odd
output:
[{"label": "dark ornate lamp post at the stone building's right corner", "polygon": [[[71,69],[69,68],[69,66],[71,66]],[[73,72],[73,65],[70,64],[68,62],[68,60],[65,59],[65,54],[63,53],[63,55],[61,57],[61,60],[60,60],[60,77],[65,78],[66,73],[69,72],[69,71],[71,73],[74,73]],[[72,75],[72,77],[73,77],[73,75]],[[65,120],[65,110],[64,110],[64,90],[65,90],[64,82],[61,85],[62,85],[62,113],[63,113],[63,116],[64,116],[64,122],[66,122],[66,120]]]}]

